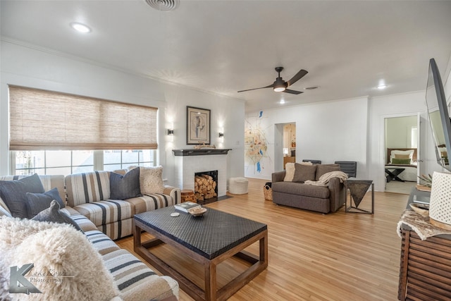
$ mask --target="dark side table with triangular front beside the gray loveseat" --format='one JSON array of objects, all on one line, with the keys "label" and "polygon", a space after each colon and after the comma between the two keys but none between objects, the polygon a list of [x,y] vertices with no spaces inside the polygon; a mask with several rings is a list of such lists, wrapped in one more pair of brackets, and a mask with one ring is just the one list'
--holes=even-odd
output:
[{"label": "dark side table with triangular front beside the gray loveseat", "polygon": [[[368,188],[371,186],[371,211],[359,208]],[[350,190],[350,202],[347,202],[347,190]],[[374,214],[374,183],[373,180],[345,180],[345,211],[354,213]],[[354,201],[354,204],[353,204]]]}]

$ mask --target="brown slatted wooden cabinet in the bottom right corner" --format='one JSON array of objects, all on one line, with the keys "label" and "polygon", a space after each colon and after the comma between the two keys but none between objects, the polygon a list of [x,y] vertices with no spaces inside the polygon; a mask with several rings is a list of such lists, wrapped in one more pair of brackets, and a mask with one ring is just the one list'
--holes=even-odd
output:
[{"label": "brown slatted wooden cabinet in the bottom right corner", "polygon": [[[416,193],[412,190],[409,202]],[[451,235],[421,240],[402,227],[398,299],[451,300]]]}]

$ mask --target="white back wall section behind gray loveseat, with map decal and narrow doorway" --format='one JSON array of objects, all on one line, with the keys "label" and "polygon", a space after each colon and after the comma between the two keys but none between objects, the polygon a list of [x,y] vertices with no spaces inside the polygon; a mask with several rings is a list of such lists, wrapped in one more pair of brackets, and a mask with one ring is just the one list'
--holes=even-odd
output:
[{"label": "white back wall section behind gray loveseat, with map decal and narrow doorway", "polygon": [[368,99],[362,97],[247,113],[247,133],[261,133],[267,152],[261,158],[259,169],[257,164],[245,159],[245,176],[271,179],[274,147],[278,147],[274,145],[274,124],[290,122],[296,123],[297,162],[302,159],[319,159],[324,164],[357,161],[357,173],[365,178],[367,108]]}]

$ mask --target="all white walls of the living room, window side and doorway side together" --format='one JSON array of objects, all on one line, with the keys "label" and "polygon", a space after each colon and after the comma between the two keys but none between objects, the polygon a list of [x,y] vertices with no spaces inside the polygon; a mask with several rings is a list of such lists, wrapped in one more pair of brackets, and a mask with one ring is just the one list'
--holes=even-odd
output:
[{"label": "all white walls of the living room, window side and doorway side together", "polygon": [[[0,174],[9,173],[8,155],[8,89],[7,85],[23,85],[89,97],[111,99],[159,107],[159,163],[165,167],[165,177],[171,184],[174,158],[171,149],[192,148],[186,145],[186,106],[211,109],[211,143],[231,148],[228,156],[228,178],[245,176],[270,179],[274,171],[274,133],[277,123],[296,123],[296,159],[320,159],[323,163],[336,160],[357,161],[359,178],[374,180],[376,190],[383,191],[383,120],[386,117],[421,113],[421,149],[426,172],[441,171],[435,163],[431,130],[426,116],[424,91],[368,99],[343,99],[321,104],[282,107],[245,114],[240,99],[222,97],[169,85],[123,70],[98,66],[90,61],[71,58],[66,54],[32,49],[11,42],[1,42],[0,78]],[[446,81],[449,101],[451,78]],[[426,83],[425,83],[426,85]],[[420,87],[422,88],[422,87]],[[120,118],[118,118],[120,122]],[[173,124],[173,141],[166,129]],[[223,142],[218,138],[223,128]],[[246,135],[243,135],[246,128]],[[258,130],[254,136],[249,130]],[[266,141],[260,168],[243,158],[245,143],[250,137]]]}]

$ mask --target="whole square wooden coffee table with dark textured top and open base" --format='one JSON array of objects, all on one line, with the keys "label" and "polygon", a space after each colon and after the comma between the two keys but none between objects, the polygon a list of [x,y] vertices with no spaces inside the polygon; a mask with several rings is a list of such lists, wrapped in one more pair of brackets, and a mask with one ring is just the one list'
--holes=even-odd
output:
[{"label": "whole square wooden coffee table with dark textured top and open base", "polygon": [[[194,300],[227,300],[268,266],[268,227],[222,211],[208,209],[204,216],[194,217],[174,207],[135,214],[133,219],[134,250],[161,273],[178,281],[180,288]],[[155,238],[141,241],[141,232]],[[259,242],[259,257],[244,249]],[[205,288],[175,271],[170,262],[152,254],[152,247],[166,242],[204,266]],[[217,289],[216,266],[230,257],[240,257],[252,264],[232,281]]]}]

